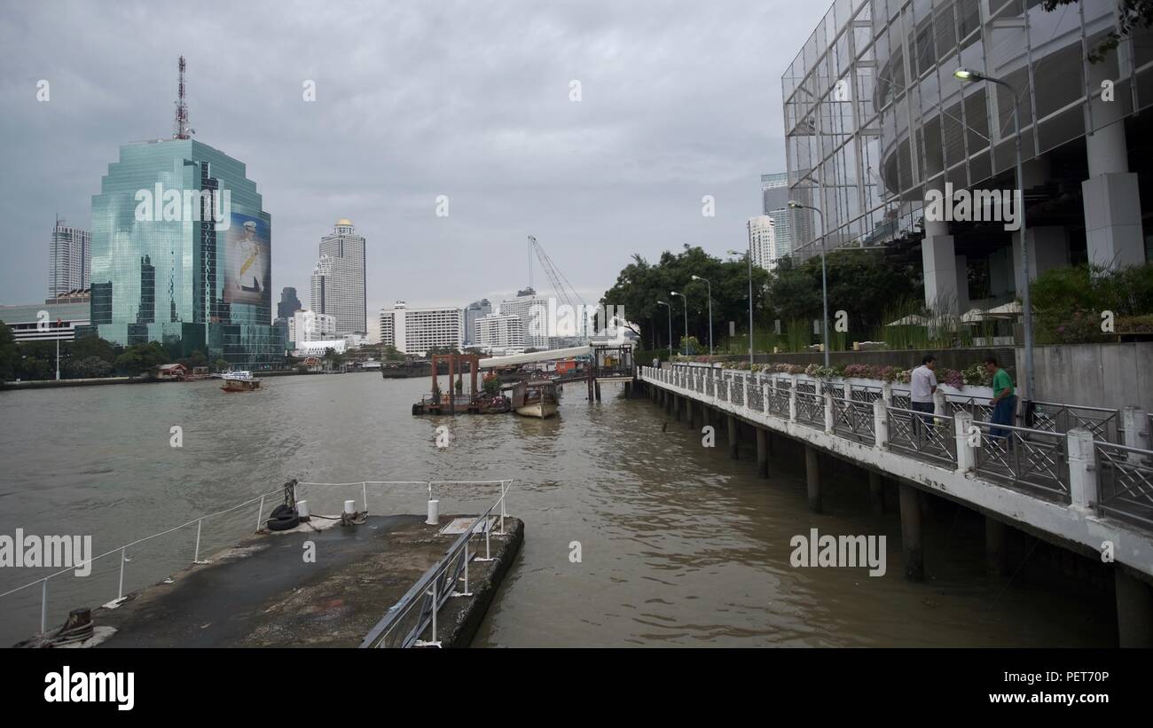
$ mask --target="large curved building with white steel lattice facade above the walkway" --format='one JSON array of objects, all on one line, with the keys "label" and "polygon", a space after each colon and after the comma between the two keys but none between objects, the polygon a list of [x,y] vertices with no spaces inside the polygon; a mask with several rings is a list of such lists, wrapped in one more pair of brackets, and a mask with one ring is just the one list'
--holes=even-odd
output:
[{"label": "large curved building with white steel lattice facade above the walkway", "polygon": [[[793,199],[824,213],[829,248],[919,253],[926,304],[965,311],[1022,289],[1020,233],[925,220],[930,191],[1016,190],[1020,94],[1030,271],[1150,256],[1153,33],[1091,63],[1116,0],[837,0],[785,71]],[[814,219],[809,223],[816,223]],[[820,228],[814,225],[814,233]],[[816,234],[794,255],[820,251]],[[1016,251],[1016,252],[1015,252]]]}]

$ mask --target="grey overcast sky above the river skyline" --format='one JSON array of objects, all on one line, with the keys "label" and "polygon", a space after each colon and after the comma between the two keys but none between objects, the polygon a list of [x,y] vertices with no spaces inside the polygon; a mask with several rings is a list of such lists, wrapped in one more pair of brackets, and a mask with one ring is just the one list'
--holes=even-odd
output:
[{"label": "grey overcast sky above the river skyline", "polygon": [[827,5],[3,0],[0,303],[46,296],[54,215],[90,227],[121,144],[172,135],[181,53],[195,138],[272,215],[273,303],[294,286],[309,305],[345,217],[370,319],[514,294],[528,235],[595,303],[634,252],[746,245],[760,175],[785,169],[781,75]]}]

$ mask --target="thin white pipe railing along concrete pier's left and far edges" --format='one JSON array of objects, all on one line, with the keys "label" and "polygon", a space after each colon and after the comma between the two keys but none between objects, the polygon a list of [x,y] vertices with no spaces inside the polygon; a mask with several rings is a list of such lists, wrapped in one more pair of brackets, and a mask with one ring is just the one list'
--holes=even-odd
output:
[{"label": "thin white pipe railing along concrete pier's left and far edges", "polygon": [[[301,493],[302,493],[302,491],[301,491],[302,486],[327,487],[327,488],[334,488],[334,487],[352,487],[352,488],[357,488],[360,491],[360,494],[361,494],[361,498],[362,498],[361,502],[362,502],[363,509],[364,509],[366,513],[368,513],[368,510],[369,510],[369,486],[407,486],[407,485],[417,485],[417,486],[421,486],[423,490],[425,490],[429,493],[429,499],[431,499],[434,496],[434,494],[438,494],[439,490],[442,487],[444,487],[444,486],[495,486],[495,485],[499,485],[500,486],[500,495],[496,500],[496,502],[492,505],[492,507],[490,507],[490,511],[491,511],[491,508],[495,508],[495,507],[499,506],[499,508],[500,508],[500,511],[499,511],[500,529],[502,529],[502,532],[503,532],[503,530],[504,530],[504,518],[507,515],[505,513],[505,496],[507,494],[507,491],[508,491],[508,487],[510,487],[511,484],[512,484],[512,480],[362,480],[362,481],[356,481],[356,483],[307,483],[307,481],[306,483],[300,483],[300,481],[297,481],[297,483],[295,483],[295,488],[296,488],[295,492],[296,492],[296,495],[297,495],[297,501],[300,501],[300,500],[306,500],[306,499],[299,498],[301,495]],[[91,567],[92,564],[95,564],[97,562],[100,562],[103,560],[110,559],[113,555],[116,555],[116,556],[119,556],[119,568],[118,568],[118,575],[116,575],[116,597],[115,597],[115,599],[111,600],[107,604],[108,605],[119,604],[119,602],[123,601],[125,594],[126,594],[126,591],[125,591],[125,577],[126,577],[127,564],[137,561],[137,556],[135,554],[133,554],[130,549],[137,548],[137,547],[140,547],[140,546],[142,546],[144,544],[150,543],[150,541],[155,541],[156,539],[159,539],[161,537],[178,533],[180,531],[186,531],[187,530],[190,533],[193,526],[195,526],[195,529],[196,529],[196,538],[195,538],[195,546],[191,549],[193,551],[193,559],[191,559],[190,562],[186,562],[186,563],[190,563],[190,564],[205,564],[205,563],[209,563],[208,561],[204,561],[204,560],[201,559],[201,553],[202,553],[202,537],[204,536],[204,525],[205,525],[205,523],[210,522],[212,520],[223,518],[223,517],[225,517],[225,516],[227,516],[229,514],[236,514],[236,513],[239,513],[241,509],[243,509],[246,507],[250,507],[253,505],[257,505],[256,513],[255,513],[255,531],[259,532],[262,530],[263,524],[265,523],[265,503],[269,502],[270,498],[276,498],[276,496],[282,495],[284,492],[285,492],[285,487],[286,486],[280,486],[280,487],[276,488],[274,491],[269,491],[269,492],[262,493],[261,495],[255,495],[255,496],[253,496],[253,498],[250,498],[250,499],[248,499],[248,500],[246,500],[243,502],[240,502],[240,503],[236,503],[236,505],[231,506],[228,508],[225,508],[224,510],[218,510],[218,511],[212,513],[212,514],[208,514],[208,515],[204,515],[204,516],[198,516],[196,518],[193,518],[191,521],[188,521],[186,523],[181,523],[180,525],[173,526],[171,529],[166,529],[164,531],[159,531],[157,533],[152,533],[152,534],[145,536],[143,538],[138,538],[138,539],[136,539],[134,541],[130,541],[128,544],[123,544],[122,546],[118,546],[115,548],[106,551],[106,552],[104,552],[104,553],[101,553],[99,555],[91,556],[91,558],[89,558],[86,560],[81,560],[80,562],[74,563],[70,567],[60,569],[58,571],[53,571],[52,574],[43,576],[43,577],[40,577],[40,578],[36,579],[36,581],[29,582],[29,583],[23,584],[21,586],[16,586],[14,589],[9,589],[9,590],[7,590],[5,592],[0,592],[0,601],[5,600],[7,598],[15,597],[15,596],[17,596],[17,594],[20,594],[22,592],[25,592],[27,590],[30,590],[30,589],[32,589],[35,586],[39,586],[40,587],[40,599],[39,599],[40,620],[39,620],[39,629],[40,629],[40,634],[44,634],[44,632],[47,631],[47,624],[48,624],[48,619],[50,619],[48,617],[48,584],[50,584],[50,582],[52,582],[52,579],[65,577],[68,574],[75,574],[75,571],[78,568]],[[312,508],[311,510],[312,510],[314,514],[318,514],[319,513],[315,508]],[[253,516],[250,515],[249,517],[253,517]],[[244,518],[244,521],[248,521],[248,518]],[[248,521],[248,523],[254,523],[254,522],[253,521]],[[226,536],[225,538],[228,539],[228,540],[232,540],[232,543],[235,543],[235,539],[242,538],[244,532],[246,531],[243,531],[242,529],[234,529],[232,536]],[[134,569],[141,569],[143,566],[144,564],[137,563],[134,567]],[[145,571],[146,571],[146,569],[145,569]],[[163,574],[165,574],[165,572],[166,571],[152,572],[146,578],[150,578],[150,579],[155,581],[156,578],[159,578],[160,576],[163,576]],[[88,578],[88,577],[78,577],[77,576],[76,578]],[[151,582],[145,582],[145,583],[151,583]],[[10,617],[12,617],[12,613],[9,612],[8,615],[6,616],[6,619],[10,619]]]}]

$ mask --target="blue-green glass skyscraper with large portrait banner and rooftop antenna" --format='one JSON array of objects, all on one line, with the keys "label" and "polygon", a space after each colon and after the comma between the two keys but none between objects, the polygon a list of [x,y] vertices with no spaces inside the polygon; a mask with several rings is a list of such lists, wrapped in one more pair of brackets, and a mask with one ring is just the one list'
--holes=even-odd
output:
[{"label": "blue-green glass skyscraper with large portrait banner and rooftop antenna", "polygon": [[193,139],[126,144],[92,197],[92,325],[246,369],[284,361],[271,222],[244,165]]}]

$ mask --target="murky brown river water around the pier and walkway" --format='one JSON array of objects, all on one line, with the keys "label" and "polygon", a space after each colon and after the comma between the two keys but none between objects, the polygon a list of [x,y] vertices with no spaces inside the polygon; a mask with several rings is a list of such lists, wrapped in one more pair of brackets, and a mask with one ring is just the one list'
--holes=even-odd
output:
[{"label": "murky brown river water around the pier and walkway", "polygon": [[[858,480],[830,478],[827,513],[812,515],[797,463],[775,462],[760,480],[751,458],[728,458],[723,437],[702,447],[699,431],[611,386],[590,405],[570,385],[560,416],[544,422],[413,417],[427,388],[364,373],[270,378],[239,395],[213,381],[0,393],[0,534],[91,534],[100,554],[291,478],[511,478],[508,511],[525,521],[526,540],[474,646],[1113,644],[1100,598],[986,576],[971,516],[927,524],[929,578],[913,584],[899,518],[874,516]],[[447,448],[436,446],[439,424],[451,429]],[[171,446],[173,426],[182,447]],[[370,509],[423,513],[425,492],[374,492]],[[360,486],[307,494],[314,513],[361,496]],[[490,490],[461,486],[442,493],[440,511],[476,513],[491,500]],[[205,521],[202,553],[255,523],[254,505]],[[886,536],[887,572],[793,568],[790,539],[812,528]],[[193,525],[127,549],[125,591],[187,566],[195,538]],[[2,568],[0,592],[47,572]],[[119,578],[114,554],[86,577],[50,581],[50,624],[111,600]],[[0,598],[2,644],[36,630],[40,596],[36,585]]]}]

